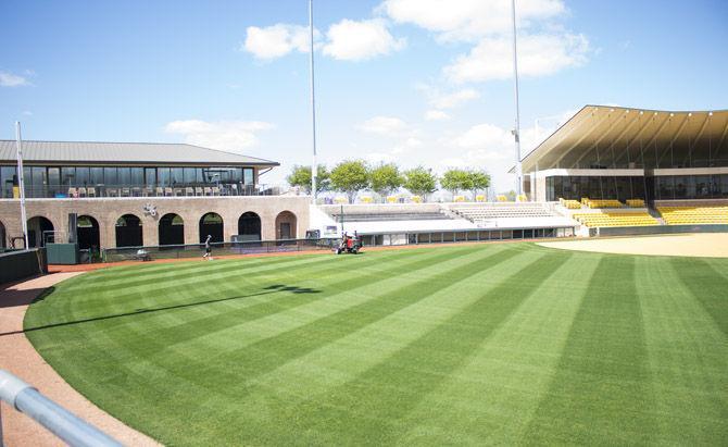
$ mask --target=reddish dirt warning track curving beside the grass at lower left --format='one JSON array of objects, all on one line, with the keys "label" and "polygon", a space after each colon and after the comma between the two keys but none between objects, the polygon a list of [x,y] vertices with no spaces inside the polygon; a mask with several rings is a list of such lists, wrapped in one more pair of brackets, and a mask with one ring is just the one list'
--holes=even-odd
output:
[{"label": "reddish dirt warning track curving beside the grass at lower left", "polygon": [[[158,446],[159,443],[124,425],[73,389],[36,352],[23,333],[23,318],[33,299],[47,287],[78,274],[80,272],[55,273],[16,284],[0,285],[0,369],[17,375],[125,445]],[[35,421],[4,403],[2,433],[9,447],[65,445]]]}]

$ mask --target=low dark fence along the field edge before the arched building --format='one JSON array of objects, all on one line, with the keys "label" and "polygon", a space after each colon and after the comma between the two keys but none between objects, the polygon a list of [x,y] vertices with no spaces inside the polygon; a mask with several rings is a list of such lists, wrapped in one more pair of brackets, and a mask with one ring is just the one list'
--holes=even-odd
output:
[{"label": "low dark fence along the field edge before the arched building", "polygon": [[[287,251],[330,250],[338,238],[240,240],[213,243],[212,256],[256,254]],[[148,247],[105,248],[101,252],[102,262],[141,261],[155,259],[180,259],[201,257],[204,244],[180,244]]]}]

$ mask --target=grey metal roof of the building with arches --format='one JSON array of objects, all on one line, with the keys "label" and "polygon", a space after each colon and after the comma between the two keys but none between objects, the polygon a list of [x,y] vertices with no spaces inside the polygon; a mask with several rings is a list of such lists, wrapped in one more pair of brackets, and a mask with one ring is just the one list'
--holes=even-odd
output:
[{"label": "grey metal roof of the building with arches", "polygon": [[[15,160],[15,141],[0,140],[0,162]],[[24,140],[23,160],[30,164],[279,165],[275,161],[175,142]]]}]

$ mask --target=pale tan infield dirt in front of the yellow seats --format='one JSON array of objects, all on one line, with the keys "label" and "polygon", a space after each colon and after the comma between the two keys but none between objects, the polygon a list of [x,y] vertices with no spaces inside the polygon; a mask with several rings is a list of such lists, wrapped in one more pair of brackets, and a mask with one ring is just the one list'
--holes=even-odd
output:
[{"label": "pale tan infield dirt in front of the yellow seats", "polygon": [[604,253],[728,258],[728,233],[615,237],[539,243],[542,247]]}]

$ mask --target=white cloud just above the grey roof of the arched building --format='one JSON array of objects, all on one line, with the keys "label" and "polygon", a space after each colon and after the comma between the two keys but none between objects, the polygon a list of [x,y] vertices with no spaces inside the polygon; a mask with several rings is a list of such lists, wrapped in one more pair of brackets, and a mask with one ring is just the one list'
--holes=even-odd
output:
[{"label": "white cloud just above the grey roof of the arched building", "polygon": [[168,123],[164,131],[183,135],[190,145],[235,152],[254,146],[258,133],[273,127],[262,121],[180,120]]}]

